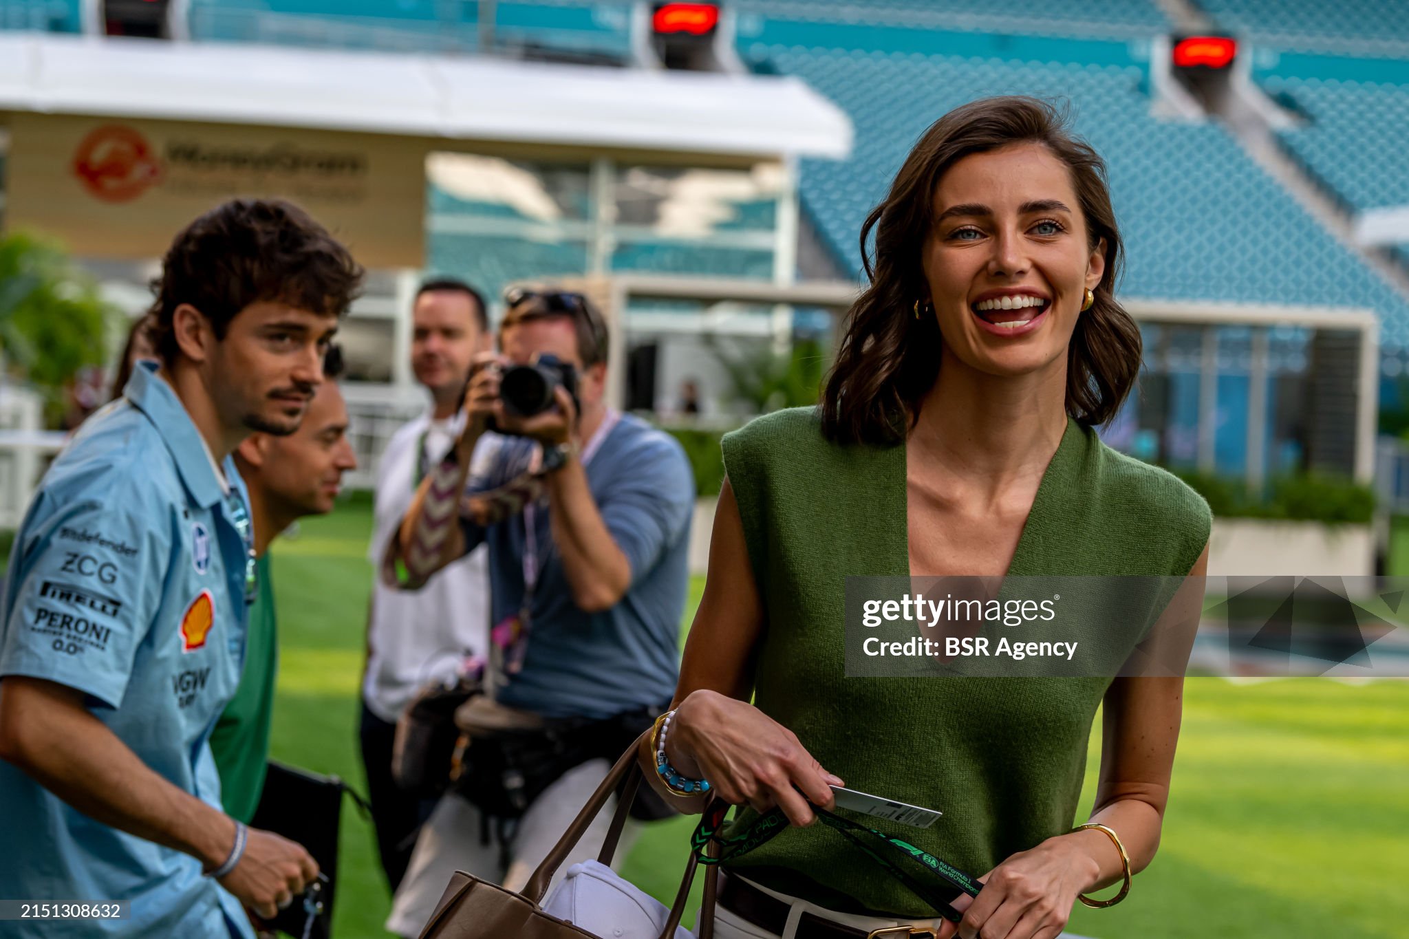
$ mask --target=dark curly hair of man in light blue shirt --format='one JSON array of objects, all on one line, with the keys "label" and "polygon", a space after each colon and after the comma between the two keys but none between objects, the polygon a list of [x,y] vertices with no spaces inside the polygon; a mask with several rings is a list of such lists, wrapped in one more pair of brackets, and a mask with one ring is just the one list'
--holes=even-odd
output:
[{"label": "dark curly hair of man in light blue shirt", "polygon": [[311,215],[279,198],[232,198],[189,224],[152,282],[156,351],[176,359],[172,318],[189,303],[224,338],[252,303],[286,303],[342,315],[362,286],[362,267]]}]

